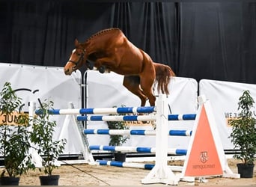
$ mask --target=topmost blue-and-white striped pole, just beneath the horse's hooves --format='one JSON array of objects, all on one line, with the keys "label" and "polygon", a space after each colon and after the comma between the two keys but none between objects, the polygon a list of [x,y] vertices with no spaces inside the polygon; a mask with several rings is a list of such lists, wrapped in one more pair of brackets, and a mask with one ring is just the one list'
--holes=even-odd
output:
[{"label": "topmost blue-and-white striped pole, just beneath the horse's hooves", "polygon": [[[50,114],[138,114],[152,113],[155,106],[121,107],[121,108],[79,108],[79,109],[50,109]],[[40,110],[35,111],[40,114]]]}]

